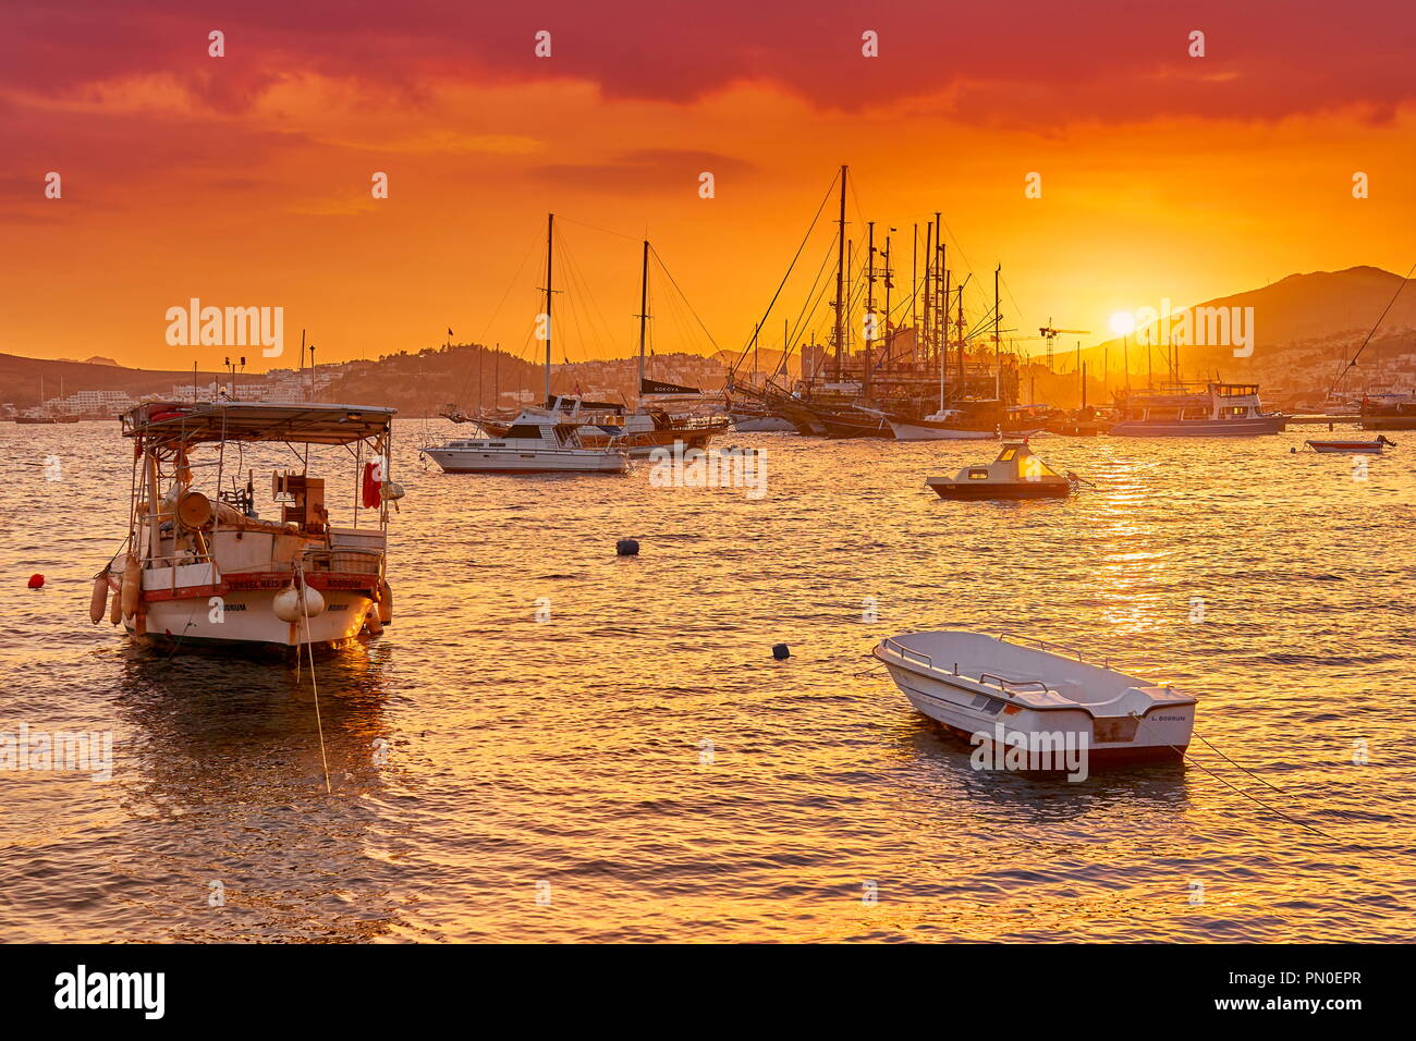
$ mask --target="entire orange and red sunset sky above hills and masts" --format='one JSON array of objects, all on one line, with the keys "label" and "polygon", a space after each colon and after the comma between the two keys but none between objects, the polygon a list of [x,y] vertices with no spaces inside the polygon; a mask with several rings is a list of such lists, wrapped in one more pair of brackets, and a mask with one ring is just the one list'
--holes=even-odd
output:
[{"label": "entire orange and red sunset sky above hills and masts", "polygon": [[[899,228],[906,278],[910,224],[940,210],[990,297],[1004,265],[1007,324],[1089,343],[1161,297],[1416,259],[1416,8],[1396,0],[139,0],[6,4],[0,23],[13,354],[219,365],[231,351],[164,341],[193,296],[285,307],[285,357],[248,351],[248,371],[293,365],[300,327],[321,361],[449,326],[530,354],[548,210],[603,316],[598,336],[558,326],[556,360],[633,350],[646,232],[738,348],[841,163],[850,234]],[[661,322],[656,346],[707,344]]]}]

